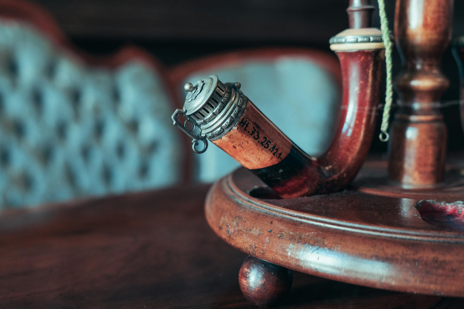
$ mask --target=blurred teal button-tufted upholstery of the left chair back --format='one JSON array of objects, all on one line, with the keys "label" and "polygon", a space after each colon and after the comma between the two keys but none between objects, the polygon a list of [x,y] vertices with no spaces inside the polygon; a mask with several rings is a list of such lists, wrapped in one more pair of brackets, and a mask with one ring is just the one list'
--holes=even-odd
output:
[{"label": "blurred teal button-tufted upholstery of the left chair back", "polygon": [[0,209],[152,189],[181,177],[181,132],[145,63],[89,67],[0,19]]}]

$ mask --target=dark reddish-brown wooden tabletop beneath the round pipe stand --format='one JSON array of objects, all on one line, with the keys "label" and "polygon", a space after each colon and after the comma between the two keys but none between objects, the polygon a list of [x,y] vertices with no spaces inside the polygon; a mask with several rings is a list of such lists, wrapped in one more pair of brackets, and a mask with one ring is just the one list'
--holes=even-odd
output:
[{"label": "dark reddish-brown wooden tabletop beneath the round pipe stand", "polygon": [[[207,226],[208,186],[0,214],[0,308],[256,308],[238,287],[245,254]],[[277,308],[462,308],[294,272]]]}]

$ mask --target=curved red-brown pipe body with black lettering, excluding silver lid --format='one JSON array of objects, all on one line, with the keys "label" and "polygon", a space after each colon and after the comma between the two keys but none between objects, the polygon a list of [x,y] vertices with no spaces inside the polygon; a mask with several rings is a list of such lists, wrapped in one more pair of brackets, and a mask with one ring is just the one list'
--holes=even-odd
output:
[{"label": "curved red-brown pipe body with black lettering, excluding silver lid", "polygon": [[342,116],[322,156],[304,153],[249,100],[237,126],[212,141],[280,197],[340,191],[366,158],[374,133],[384,50],[344,50],[337,55],[343,77]]}]

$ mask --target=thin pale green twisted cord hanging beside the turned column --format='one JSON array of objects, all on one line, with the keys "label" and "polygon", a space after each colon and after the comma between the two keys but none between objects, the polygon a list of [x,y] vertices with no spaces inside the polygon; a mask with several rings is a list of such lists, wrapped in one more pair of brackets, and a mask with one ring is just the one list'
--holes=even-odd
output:
[{"label": "thin pale green twisted cord hanging beside the turned column", "polygon": [[379,138],[382,142],[388,141],[388,120],[390,119],[390,109],[393,101],[393,84],[392,84],[392,42],[390,41],[390,31],[388,30],[387,13],[385,13],[384,0],[379,1],[380,30],[382,31],[383,44],[385,46],[385,66],[387,70],[387,87],[385,90],[385,107],[383,108],[382,125],[380,126]]}]

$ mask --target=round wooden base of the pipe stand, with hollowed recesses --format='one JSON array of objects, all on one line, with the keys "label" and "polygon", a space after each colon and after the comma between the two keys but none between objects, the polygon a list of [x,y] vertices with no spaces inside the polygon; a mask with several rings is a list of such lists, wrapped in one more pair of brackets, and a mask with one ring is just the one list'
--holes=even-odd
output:
[{"label": "round wooden base of the pipe stand, with hollowed recesses", "polygon": [[461,169],[450,167],[451,181],[436,188],[400,188],[383,174],[386,163],[367,162],[351,189],[282,200],[239,169],[210,189],[206,219],[231,246],[295,271],[464,296],[464,203],[456,202],[464,200]]}]

